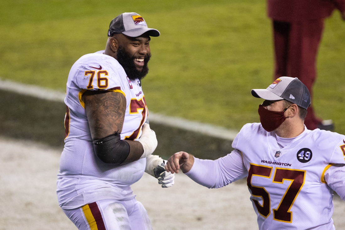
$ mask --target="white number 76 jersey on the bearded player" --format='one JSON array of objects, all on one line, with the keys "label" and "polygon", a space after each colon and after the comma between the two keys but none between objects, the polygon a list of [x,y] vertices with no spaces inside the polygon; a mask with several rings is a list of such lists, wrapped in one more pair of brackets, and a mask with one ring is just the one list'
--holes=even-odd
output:
[{"label": "white number 76 jersey on the bearded player", "polygon": [[86,90],[108,90],[126,97],[121,140],[138,140],[148,109],[140,80],[130,80],[118,61],[103,51],[87,54],[72,66],[67,80],[65,148],[57,181],[59,204],[64,209],[81,207],[103,199],[130,200],[130,185],[145,170],[146,158],[115,166],[98,159],[93,150],[85,105]]}]

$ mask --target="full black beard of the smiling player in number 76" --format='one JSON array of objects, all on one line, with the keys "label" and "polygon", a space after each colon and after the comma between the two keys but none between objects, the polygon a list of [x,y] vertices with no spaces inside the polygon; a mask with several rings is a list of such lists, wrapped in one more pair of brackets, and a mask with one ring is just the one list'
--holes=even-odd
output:
[{"label": "full black beard of the smiling player in number 76", "polygon": [[127,77],[131,80],[135,80],[135,79],[141,80],[149,72],[149,68],[147,67],[147,63],[150,60],[151,54],[149,54],[144,59],[144,66],[142,67],[141,70],[138,70],[135,67],[134,57],[130,57],[128,52],[126,52],[126,50],[124,48],[122,48],[121,46],[117,49],[116,56],[117,56],[117,61],[124,68],[124,70],[127,74]]}]

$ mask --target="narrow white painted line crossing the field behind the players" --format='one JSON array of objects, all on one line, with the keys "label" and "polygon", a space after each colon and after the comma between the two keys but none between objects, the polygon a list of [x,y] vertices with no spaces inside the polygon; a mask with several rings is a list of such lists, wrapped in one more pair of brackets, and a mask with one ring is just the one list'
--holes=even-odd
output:
[{"label": "narrow white painted line crossing the field behind the players", "polygon": [[[63,102],[63,100],[65,99],[65,93],[61,93],[52,89],[42,88],[36,85],[27,85],[13,82],[11,80],[0,79],[0,89],[56,102]],[[236,134],[238,133],[235,130],[228,130],[221,126],[189,121],[180,117],[165,116],[152,112],[150,112],[149,114],[149,120],[152,123],[181,128],[183,130],[202,133],[208,136],[230,141],[233,141]]]}]

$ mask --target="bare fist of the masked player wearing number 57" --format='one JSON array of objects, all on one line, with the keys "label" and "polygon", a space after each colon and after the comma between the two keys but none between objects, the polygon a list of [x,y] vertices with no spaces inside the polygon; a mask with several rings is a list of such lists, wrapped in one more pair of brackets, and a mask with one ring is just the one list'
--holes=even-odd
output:
[{"label": "bare fist of the masked player wearing number 57", "polygon": [[194,163],[194,158],[193,158],[193,162],[189,162],[190,158],[193,158],[193,157],[189,157],[189,154],[186,152],[175,153],[174,155],[169,157],[168,162],[165,165],[165,170],[171,173],[178,173],[178,170],[180,169],[180,167],[184,167],[182,171],[188,172]]}]

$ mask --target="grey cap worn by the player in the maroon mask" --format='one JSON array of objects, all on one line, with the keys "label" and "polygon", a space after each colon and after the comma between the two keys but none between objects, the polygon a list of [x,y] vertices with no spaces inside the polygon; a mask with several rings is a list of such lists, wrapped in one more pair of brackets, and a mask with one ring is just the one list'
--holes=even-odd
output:
[{"label": "grey cap worn by the player in the maroon mask", "polygon": [[308,88],[297,77],[279,77],[266,89],[252,89],[252,95],[265,100],[288,100],[307,109],[311,104]]}]

